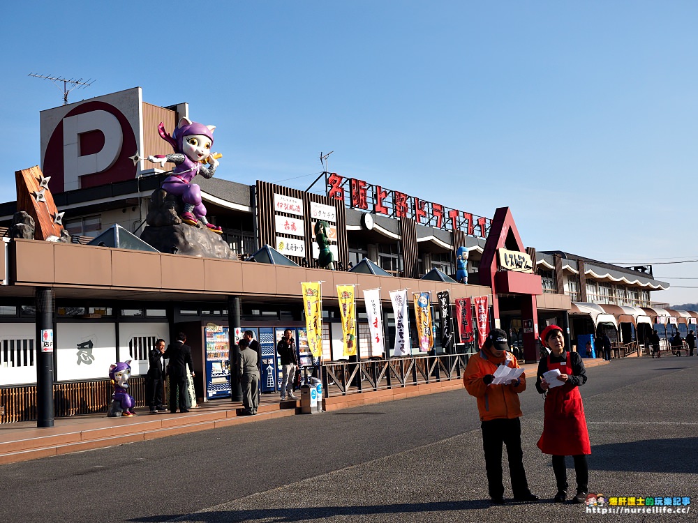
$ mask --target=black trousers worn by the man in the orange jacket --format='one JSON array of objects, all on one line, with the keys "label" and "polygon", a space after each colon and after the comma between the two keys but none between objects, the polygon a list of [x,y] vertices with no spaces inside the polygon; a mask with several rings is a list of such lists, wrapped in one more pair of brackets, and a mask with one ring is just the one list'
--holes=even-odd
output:
[{"label": "black trousers worn by the man in the orange jacket", "polygon": [[502,445],[507,446],[509,473],[512,478],[514,497],[526,496],[528,481],[523,469],[523,450],[521,450],[521,420],[498,419],[482,422],[482,447],[484,464],[487,469],[489,496],[493,499],[503,497],[502,483]]}]

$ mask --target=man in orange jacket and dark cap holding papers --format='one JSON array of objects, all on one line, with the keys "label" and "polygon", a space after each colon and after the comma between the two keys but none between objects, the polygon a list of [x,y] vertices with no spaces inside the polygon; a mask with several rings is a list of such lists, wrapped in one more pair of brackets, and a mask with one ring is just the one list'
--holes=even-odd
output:
[{"label": "man in orange jacket and dark cap holding papers", "polygon": [[477,397],[477,410],[482,420],[482,446],[489,483],[489,497],[494,504],[504,503],[502,483],[502,445],[507,446],[512,491],[516,501],[537,501],[528,490],[526,471],[523,469],[521,450],[521,404],[519,393],[526,390],[526,375],[507,384],[493,385],[499,365],[519,368],[517,358],[509,351],[507,335],[500,328],[493,329],[482,350],[470,356],[463,374],[468,394]]}]

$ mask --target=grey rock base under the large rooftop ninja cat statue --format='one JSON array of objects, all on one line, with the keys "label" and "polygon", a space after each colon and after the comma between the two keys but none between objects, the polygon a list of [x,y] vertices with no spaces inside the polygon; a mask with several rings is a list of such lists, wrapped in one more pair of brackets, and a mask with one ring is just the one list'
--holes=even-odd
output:
[{"label": "grey rock base under the large rooftop ninja cat statue", "polygon": [[147,227],[140,239],[160,252],[205,258],[237,259],[220,234],[208,227],[187,225],[179,216],[184,211],[181,199],[158,189],[150,197]]}]

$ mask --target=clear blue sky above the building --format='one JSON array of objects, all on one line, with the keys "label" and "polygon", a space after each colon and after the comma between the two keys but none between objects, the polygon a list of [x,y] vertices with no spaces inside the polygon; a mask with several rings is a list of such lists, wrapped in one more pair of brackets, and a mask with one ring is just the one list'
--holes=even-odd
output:
[{"label": "clear blue sky above the building", "polygon": [[[698,259],[698,2],[13,2],[0,201],[39,163],[28,73],[134,86],[216,128],[216,176],[305,189],[330,169],[491,217],[526,245],[607,261]],[[7,128],[7,125],[6,125]],[[318,185],[320,190],[320,185]],[[671,303],[698,263],[656,265]],[[692,278],[681,280],[674,278]]]}]

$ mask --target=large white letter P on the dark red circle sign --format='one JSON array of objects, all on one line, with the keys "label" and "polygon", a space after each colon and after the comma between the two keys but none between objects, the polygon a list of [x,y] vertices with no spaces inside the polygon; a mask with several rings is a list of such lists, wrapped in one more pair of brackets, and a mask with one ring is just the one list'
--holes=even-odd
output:
[{"label": "large white letter P on the dark red circle sign", "polygon": [[[100,131],[104,146],[97,153],[81,156],[80,135]],[[124,133],[117,117],[106,111],[91,111],[63,119],[63,172],[65,190],[80,188],[80,176],[103,172],[117,161]]]}]

